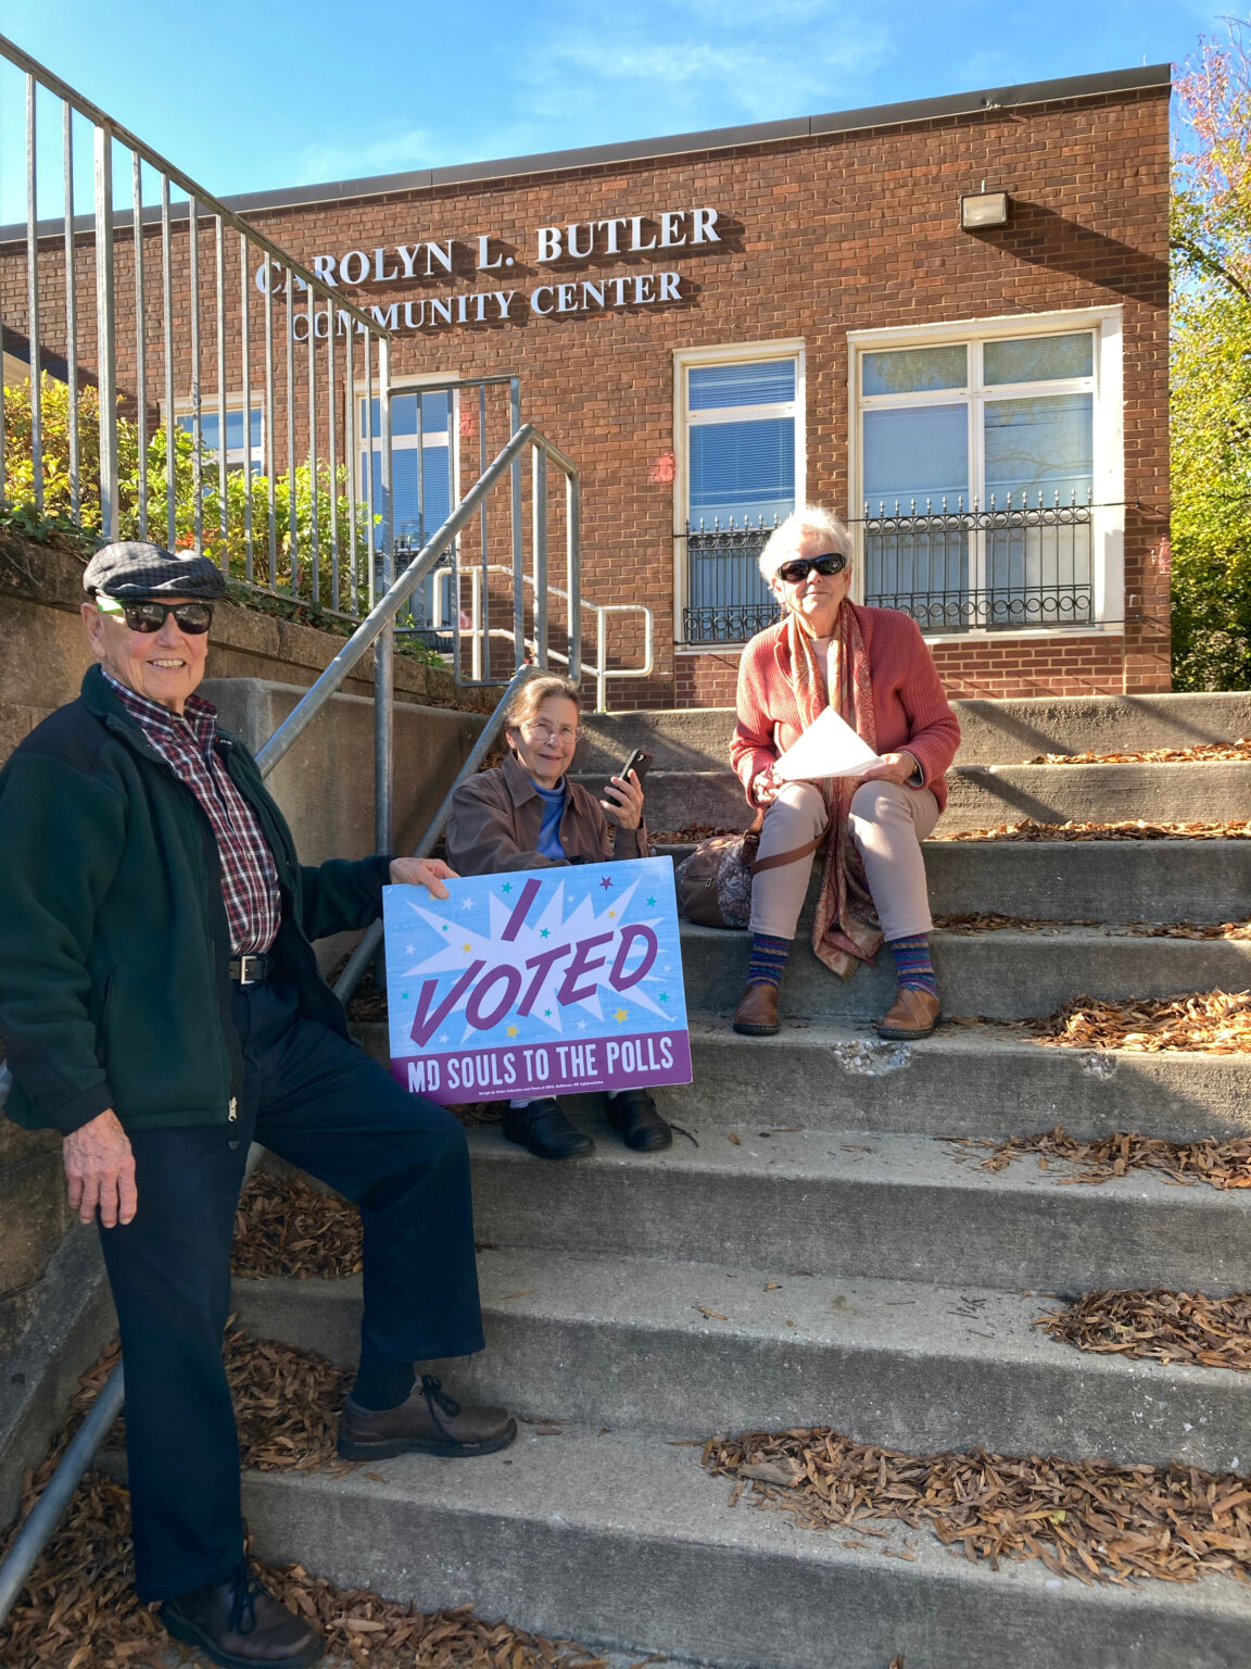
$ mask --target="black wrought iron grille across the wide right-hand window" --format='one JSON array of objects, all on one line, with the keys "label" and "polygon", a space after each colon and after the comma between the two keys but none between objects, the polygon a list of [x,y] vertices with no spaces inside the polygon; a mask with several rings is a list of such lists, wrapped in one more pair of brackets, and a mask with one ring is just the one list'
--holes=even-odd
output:
[{"label": "black wrought iron grille across the wide right-hand window", "polygon": [[864,507],[864,601],[901,609],[924,633],[1089,626],[1089,501],[1024,496],[937,509]]}]

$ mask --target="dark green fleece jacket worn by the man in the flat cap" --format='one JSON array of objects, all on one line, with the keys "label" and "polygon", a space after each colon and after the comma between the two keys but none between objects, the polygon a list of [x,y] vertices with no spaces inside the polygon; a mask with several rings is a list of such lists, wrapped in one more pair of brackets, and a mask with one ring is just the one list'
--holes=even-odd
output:
[{"label": "dark green fleece jacket worn by the man in the flat cap", "polygon": [[[274,955],[302,1015],[347,1036],[310,940],[367,926],[389,858],[302,868],[252,754],[219,731],[282,890]],[[208,818],[93,666],[0,771],[0,1038],[7,1113],[77,1130],[227,1123],[244,1077]]]}]

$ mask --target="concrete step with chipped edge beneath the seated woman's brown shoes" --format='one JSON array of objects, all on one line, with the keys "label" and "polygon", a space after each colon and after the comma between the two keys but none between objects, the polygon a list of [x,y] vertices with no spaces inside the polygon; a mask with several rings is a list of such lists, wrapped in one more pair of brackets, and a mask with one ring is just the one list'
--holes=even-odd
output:
[{"label": "concrete step with chipped edge beneath the seated woman's brown shoes", "polygon": [[[354,1026],[380,1061],[385,1025]],[[1171,1142],[1246,1135],[1251,1056],[1179,1050],[1044,1048],[996,1026],[941,1026],[882,1043],[869,1026],[784,1020],[742,1038],[726,1016],[691,1016],[694,1082],[657,1092],[666,1118],[739,1135],[767,1125],[1006,1137],[1063,1123],[1079,1137],[1136,1130]],[[569,1098],[577,1117],[602,1102]]]}]

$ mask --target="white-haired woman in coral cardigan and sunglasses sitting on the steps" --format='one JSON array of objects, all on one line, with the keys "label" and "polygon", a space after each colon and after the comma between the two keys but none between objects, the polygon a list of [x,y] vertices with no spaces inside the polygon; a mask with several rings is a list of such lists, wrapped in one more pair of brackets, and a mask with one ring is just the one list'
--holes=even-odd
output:
[{"label": "white-haired woman in coral cardigan and sunglasses sitting on the steps", "polygon": [[[777,986],[827,829],[812,950],[846,980],[886,940],[899,991],[879,1036],[924,1038],[939,1018],[921,841],[946,804],[961,731],[916,621],[847,598],[851,551],[842,522],[809,506],[761,552],[786,618],[742,651],[731,761],[766,808],[759,856],[796,856],[752,880],[751,966],[734,1015],[749,1036],[777,1031]],[[774,761],[827,704],[881,763],[861,778],[777,779]]]}]

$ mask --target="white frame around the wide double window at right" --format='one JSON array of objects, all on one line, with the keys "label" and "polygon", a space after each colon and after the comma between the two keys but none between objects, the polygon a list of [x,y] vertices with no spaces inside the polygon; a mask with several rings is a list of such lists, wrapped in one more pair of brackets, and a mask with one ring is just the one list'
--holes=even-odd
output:
[{"label": "white frame around the wide double window at right", "polygon": [[[1011,638],[1071,638],[1091,633],[1124,631],[1124,381],[1123,381],[1123,309],[1081,307],[1063,312],[1012,314],[994,319],[956,319],[944,324],[904,325],[881,330],[847,332],[847,517],[856,539],[852,598],[864,601],[864,452],[861,419],[866,411],[882,406],[951,404],[969,406],[969,474],[982,474],[981,414],[982,387],[934,389],[909,396],[861,396],[862,359],[866,354],[901,347],[949,347],[961,342],[1002,342],[1032,335],[1071,335],[1091,330],[1094,335],[1093,376],[1088,379],[1053,379],[1012,384],[1011,397],[1064,392],[1091,387],[1093,401],[1093,501],[1091,522],[1091,613],[1089,626],[1022,626],[1016,631],[977,628],[967,633],[936,633],[927,643],[1001,643]],[[976,355],[981,364],[981,355]],[[997,387],[997,386],[996,386]],[[971,394],[974,396],[971,399]]]}]

